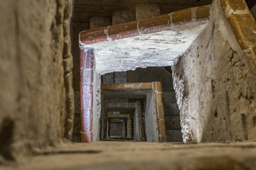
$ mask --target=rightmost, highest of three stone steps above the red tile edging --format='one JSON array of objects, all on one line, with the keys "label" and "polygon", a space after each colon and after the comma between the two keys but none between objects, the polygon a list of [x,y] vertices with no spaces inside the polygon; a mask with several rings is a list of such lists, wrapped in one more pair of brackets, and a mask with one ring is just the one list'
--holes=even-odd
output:
[{"label": "rightmost, highest of three stone steps above the red tile edging", "polygon": [[136,20],[142,18],[149,18],[152,16],[159,16],[160,6],[156,4],[137,4],[136,8]]}]

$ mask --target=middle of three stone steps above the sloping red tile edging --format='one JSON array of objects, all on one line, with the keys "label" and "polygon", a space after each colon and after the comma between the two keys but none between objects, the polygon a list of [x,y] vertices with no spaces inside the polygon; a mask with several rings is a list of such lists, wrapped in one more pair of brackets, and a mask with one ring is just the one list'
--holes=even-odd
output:
[{"label": "middle of three stone steps above the sloping red tile edging", "polygon": [[135,11],[132,10],[115,10],[112,13],[112,25],[127,23],[135,20]]}]

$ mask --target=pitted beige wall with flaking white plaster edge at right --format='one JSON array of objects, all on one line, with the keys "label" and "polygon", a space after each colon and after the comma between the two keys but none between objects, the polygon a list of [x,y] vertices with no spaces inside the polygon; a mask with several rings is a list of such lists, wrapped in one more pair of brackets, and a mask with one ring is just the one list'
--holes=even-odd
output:
[{"label": "pitted beige wall with flaking white plaster edge at right", "polygon": [[256,140],[254,54],[236,36],[214,1],[208,27],[172,67],[183,142]]}]

